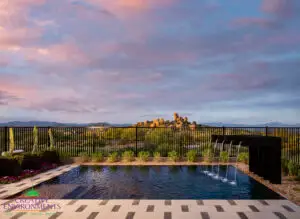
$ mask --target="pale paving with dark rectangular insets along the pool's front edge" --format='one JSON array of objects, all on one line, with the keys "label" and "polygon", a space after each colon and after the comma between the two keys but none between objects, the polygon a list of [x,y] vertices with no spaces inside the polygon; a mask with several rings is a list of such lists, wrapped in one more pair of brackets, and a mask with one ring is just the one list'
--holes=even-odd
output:
[{"label": "pale paving with dark rectangular insets along the pool's front edge", "polygon": [[[1,200],[1,205],[12,200]],[[19,212],[3,208],[12,219],[299,219],[300,207],[288,200],[51,200],[60,209]]]}]

